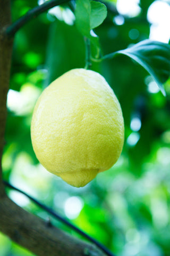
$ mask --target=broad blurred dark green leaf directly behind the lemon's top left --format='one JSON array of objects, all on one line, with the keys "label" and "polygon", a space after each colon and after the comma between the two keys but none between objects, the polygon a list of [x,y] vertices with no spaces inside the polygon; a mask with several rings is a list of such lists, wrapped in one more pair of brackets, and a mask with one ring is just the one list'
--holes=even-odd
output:
[{"label": "broad blurred dark green leaf directly behind the lemon's top left", "polygon": [[75,26],[56,20],[49,30],[46,67],[48,69],[45,86],[73,68],[85,65],[83,38]]}]

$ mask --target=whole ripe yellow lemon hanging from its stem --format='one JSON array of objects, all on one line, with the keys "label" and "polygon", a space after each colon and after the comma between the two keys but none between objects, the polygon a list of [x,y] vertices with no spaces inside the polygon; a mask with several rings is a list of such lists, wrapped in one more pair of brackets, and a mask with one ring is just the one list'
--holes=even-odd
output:
[{"label": "whole ripe yellow lemon hanging from its stem", "polygon": [[31,140],[46,170],[72,186],[111,168],[122,151],[124,121],[105,78],[80,68],[52,82],[33,111]]}]

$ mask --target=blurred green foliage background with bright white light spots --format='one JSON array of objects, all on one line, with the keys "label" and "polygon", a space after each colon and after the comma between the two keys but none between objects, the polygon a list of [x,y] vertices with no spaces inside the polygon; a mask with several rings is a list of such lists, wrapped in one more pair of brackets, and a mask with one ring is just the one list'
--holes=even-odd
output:
[{"label": "blurred green foliage background with bright white light spots", "polygon": [[[39,0],[13,0],[16,20]],[[151,38],[169,42],[170,2],[111,0],[94,32],[104,54]],[[85,65],[83,37],[70,6],[55,7],[18,31],[7,97],[3,179],[52,207],[117,256],[170,255],[170,81],[164,97],[146,70],[125,56],[92,69],[103,75],[120,100],[125,142],[118,162],[83,188],[73,188],[39,164],[31,146],[33,107],[44,88],[72,68]],[[25,210],[73,236],[25,196],[6,189]],[[1,256],[31,256],[0,233]]]}]

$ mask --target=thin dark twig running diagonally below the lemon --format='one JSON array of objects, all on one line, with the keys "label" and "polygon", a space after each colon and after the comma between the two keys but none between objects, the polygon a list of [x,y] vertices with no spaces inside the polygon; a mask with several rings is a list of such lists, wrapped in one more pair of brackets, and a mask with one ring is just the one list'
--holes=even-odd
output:
[{"label": "thin dark twig running diagonally below the lemon", "polygon": [[49,214],[53,215],[53,217],[55,217],[56,219],[62,221],[65,225],[69,226],[70,228],[72,228],[74,231],[76,231],[78,234],[80,234],[81,236],[87,238],[90,242],[96,244],[103,252],[105,252],[108,256],[115,256],[114,254],[112,254],[103,244],[100,244],[96,239],[92,238],[91,236],[89,236],[88,234],[84,233],[84,231],[82,231],[81,229],[79,229],[78,227],[74,226],[72,223],[70,223],[69,221],[65,220],[63,217],[61,217],[58,213],[54,212],[52,209],[50,209],[48,206],[40,203],[38,200],[36,200],[35,198],[33,198],[32,196],[28,195],[27,193],[25,193],[24,191],[20,190],[19,188],[16,188],[14,186],[12,186],[10,183],[8,183],[7,181],[3,181],[4,185],[7,186],[8,188],[14,189],[16,191],[18,191],[19,193],[22,193],[23,195],[27,196],[32,202],[36,203],[39,207],[41,207],[41,209],[44,209],[46,212],[48,212]]}]

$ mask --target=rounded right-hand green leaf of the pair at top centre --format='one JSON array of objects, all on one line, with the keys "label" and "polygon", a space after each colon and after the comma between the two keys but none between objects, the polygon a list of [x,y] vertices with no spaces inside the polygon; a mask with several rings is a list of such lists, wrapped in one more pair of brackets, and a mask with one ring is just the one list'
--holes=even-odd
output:
[{"label": "rounded right-hand green leaf of the pair at top centre", "polygon": [[98,27],[107,16],[107,8],[104,4],[96,1],[90,1],[91,15],[90,15],[90,29]]}]

